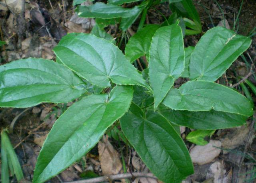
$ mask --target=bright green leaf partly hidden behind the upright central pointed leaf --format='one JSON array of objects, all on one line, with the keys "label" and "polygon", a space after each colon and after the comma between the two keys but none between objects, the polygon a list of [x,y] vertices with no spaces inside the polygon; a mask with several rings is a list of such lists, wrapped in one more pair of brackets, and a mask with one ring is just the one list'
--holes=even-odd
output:
[{"label": "bright green leaf partly hidden behind the upright central pointed leaf", "polygon": [[149,59],[151,40],[158,28],[159,25],[148,24],[129,39],[125,47],[125,56],[131,63],[144,55]]}]

